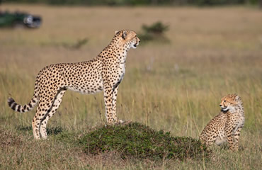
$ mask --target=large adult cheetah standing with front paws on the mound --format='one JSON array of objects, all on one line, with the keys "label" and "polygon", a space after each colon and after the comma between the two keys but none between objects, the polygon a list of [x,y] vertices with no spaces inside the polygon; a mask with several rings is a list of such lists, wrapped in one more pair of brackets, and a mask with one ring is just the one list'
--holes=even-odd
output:
[{"label": "large adult cheetah standing with front paws on the mound", "polygon": [[47,138],[47,121],[55,114],[67,89],[83,94],[95,94],[103,90],[106,120],[112,125],[118,120],[115,108],[118,85],[125,74],[127,51],[139,45],[139,38],[132,30],[115,31],[110,44],[100,54],[87,62],[52,64],[42,69],[35,81],[33,98],[24,106],[8,98],[8,106],[25,113],[37,103],[32,121],[35,139]]}]

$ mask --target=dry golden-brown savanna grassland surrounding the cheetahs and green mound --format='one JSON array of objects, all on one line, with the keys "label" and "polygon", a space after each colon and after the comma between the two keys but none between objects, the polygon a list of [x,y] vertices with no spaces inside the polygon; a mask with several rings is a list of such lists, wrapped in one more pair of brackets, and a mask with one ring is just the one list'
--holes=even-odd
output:
[{"label": "dry golden-brown savanna grassland surrounding the cheetahs and green mound", "polygon": [[[262,12],[254,7],[59,7],[7,5],[43,18],[39,29],[0,30],[0,169],[260,169],[262,162]],[[96,57],[115,30],[141,32],[143,24],[169,25],[169,43],[141,42],[127,55],[117,113],[123,120],[198,138],[220,112],[220,98],[237,93],[246,122],[240,151],[212,147],[203,160],[159,162],[91,156],[76,145],[106,123],[103,94],[67,91],[50,119],[49,140],[35,141],[30,130],[35,109],[15,113],[12,96],[27,103],[35,77],[48,64]],[[79,40],[88,42],[79,49]],[[64,137],[69,136],[69,137]]]}]

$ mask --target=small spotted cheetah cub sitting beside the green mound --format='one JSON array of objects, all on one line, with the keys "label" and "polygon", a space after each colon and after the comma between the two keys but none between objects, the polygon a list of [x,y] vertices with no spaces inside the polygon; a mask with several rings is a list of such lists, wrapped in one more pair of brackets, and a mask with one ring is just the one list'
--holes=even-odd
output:
[{"label": "small spotted cheetah cub sitting beside the green mound", "polygon": [[205,126],[200,140],[206,145],[211,145],[212,142],[216,145],[228,142],[229,149],[236,151],[245,121],[243,103],[237,94],[229,94],[221,98],[220,107],[220,114]]}]

